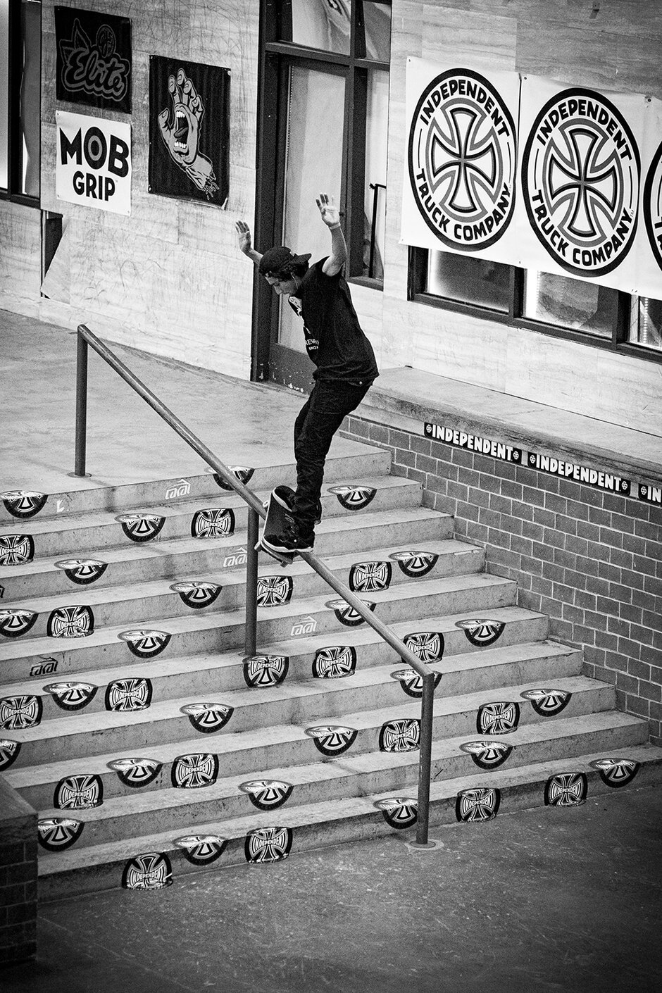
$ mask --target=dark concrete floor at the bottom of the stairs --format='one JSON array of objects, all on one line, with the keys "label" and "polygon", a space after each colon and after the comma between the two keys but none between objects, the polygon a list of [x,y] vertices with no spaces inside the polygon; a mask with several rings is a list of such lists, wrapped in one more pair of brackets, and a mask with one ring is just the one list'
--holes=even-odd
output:
[{"label": "dark concrete floor at the bottom of the stairs", "polygon": [[12,993],[659,993],[662,789],[42,906]]}]

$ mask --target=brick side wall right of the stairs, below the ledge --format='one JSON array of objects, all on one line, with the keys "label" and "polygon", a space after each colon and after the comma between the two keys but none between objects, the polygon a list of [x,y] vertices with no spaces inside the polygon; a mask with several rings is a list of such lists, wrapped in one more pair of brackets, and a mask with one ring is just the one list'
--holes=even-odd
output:
[{"label": "brick side wall right of the stairs, below the ledge", "polygon": [[583,648],[585,674],[614,684],[619,709],[647,718],[662,745],[662,507],[637,499],[636,482],[622,497],[530,469],[526,452],[516,465],[431,440],[423,424],[346,423],[346,437],[389,448],[393,473],[454,514],[456,535],[485,548],[487,572],[515,580],[518,605],[548,614],[551,638]]}]

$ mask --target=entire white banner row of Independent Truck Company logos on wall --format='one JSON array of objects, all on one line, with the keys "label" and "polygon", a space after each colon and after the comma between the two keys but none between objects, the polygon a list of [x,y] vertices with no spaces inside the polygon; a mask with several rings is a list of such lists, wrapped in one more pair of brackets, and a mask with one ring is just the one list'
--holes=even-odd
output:
[{"label": "entire white banner row of Independent Truck Company logos on wall", "polygon": [[403,242],[662,297],[662,102],[410,59],[407,117]]}]

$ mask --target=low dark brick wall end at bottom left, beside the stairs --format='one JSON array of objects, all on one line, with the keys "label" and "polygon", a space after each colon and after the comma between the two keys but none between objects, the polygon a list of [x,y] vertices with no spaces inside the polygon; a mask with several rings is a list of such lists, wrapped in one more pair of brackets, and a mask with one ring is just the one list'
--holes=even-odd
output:
[{"label": "low dark brick wall end at bottom left, beside the stairs", "polygon": [[36,951],[37,813],[0,776],[0,965]]}]

